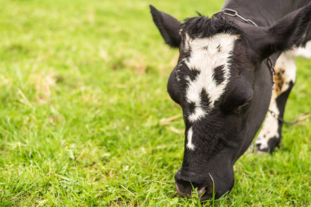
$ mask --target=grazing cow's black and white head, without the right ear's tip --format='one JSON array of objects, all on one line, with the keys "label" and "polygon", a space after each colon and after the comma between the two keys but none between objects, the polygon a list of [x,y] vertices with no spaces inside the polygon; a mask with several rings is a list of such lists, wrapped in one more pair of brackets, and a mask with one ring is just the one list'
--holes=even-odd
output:
[{"label": "grazing cow's black and white head, without the right ear's tip", "polygon": [[218,198],[233,187],[233,165],[251,144],[269,107],[272,75],[263,60],[286,49],[262,39],[290,19],[263,30],[222,17],[193,17],[181,24],[151,10],[166,43],[180,52],[168,80],[168,93],[181,106],[185,123],[177,193],[190,197],[197,188],[206,200],[215,190]]}]

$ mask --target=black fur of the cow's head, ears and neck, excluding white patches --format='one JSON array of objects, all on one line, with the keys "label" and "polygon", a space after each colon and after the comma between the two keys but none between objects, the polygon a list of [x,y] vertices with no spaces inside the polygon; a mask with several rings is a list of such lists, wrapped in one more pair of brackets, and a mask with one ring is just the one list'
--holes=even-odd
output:
[{"label": "black fur of the cow's head, ears and neck, excluding white patches", "polygon": [[[231,190],[234,183],[233,165],[251,144],[269,108],[272,74],[263,60],[272,57],[275,62],[284,50],[311,39],[309,2],[226,1],[224,8],[241,11],[240,14],[252,19],[260,27],[225,14],[217,14],[214,18],[199,14],[199,17],[188,18],[181,23],[150,6],[154,23],[163,39],[169,46],[178,47],[180,51],[177,66],[168,80],[168,92],[181,106],[186,128],[184,160],[175,175],[176,184],[181,190],[177,192],[179,195],[190,195],[193,187],[197,187],[198,190],[206,189],[201,199],[209,199],[215,186],[217,199]],[[281,7],[269,7],[275,5]],[[300,8],[301,6],[305,7]],[[229,63],[231,77],[224,94],[215,101],[213,108],[209,106],[211,97],[202,90],[199,101],[206,116],[192,123],[188,120],[188,115],[195,112],[197,103],[189,103],[186,88],[188,81],[194,81],[201,68],[186,66],[184,61],[190,57],[191,48],[185,50],[184,37],[188,34],[192,39],[213,38],[213,35],[220,33],[239,34]],[[217,49],[223,50],[221,47]],[[214,68],[213,79],[217,84],[224,81],[222,68],[223,66]],[[285,93],[277,100],[279,108],[285,106],[287,96]],[[187,133],[190,128],[193,130],[195,150],[187,148]]]}]

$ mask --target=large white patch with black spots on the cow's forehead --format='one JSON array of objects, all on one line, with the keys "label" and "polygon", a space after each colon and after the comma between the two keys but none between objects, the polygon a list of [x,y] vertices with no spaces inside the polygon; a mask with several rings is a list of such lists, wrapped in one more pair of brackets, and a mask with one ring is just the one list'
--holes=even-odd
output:
[{"label": "large white patch with black spots on the cow's forehead", "polygon": [[[194,103],[195,109],[188,120],[190,122],[197,121],[207,115],[207,112],[202,109],[202,90],[206,91],[209,105],[211,109],[229,83],[230,77],[230,57],[233,52],[234,43],[238,37],[232,34],[215,34],[208,38],[190,39],[186,34],[185,49],[190,49],[190,57],[185,59],[185,63],[189,70],[197,70],[199,74],[193,81],[188,79],[188,87],[186,88],[186,99],[188,103]],[[224,81],[217,84],[213,75],[214,68],[224,66],[222,68]]]}]

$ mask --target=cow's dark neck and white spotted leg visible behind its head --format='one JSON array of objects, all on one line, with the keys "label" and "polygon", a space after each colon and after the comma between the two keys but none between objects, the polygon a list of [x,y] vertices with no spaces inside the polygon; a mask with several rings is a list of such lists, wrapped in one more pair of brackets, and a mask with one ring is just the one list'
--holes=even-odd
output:
[{"label": "cow's dark neck and white spotted leg visible behind its head", "polygon": [[[308,1],[242,1],[231,0],[226,1],[222,8],[231,8],[238,10],[243,14],[243,17],[249,18],[256,22],[258,26],[268,27],[274,25],[278,19],[281,19],[286,14],[305,6]],[[242,10],[241,10],[241,6]],[[253,8],[253,9],[249,9]],[[279,146],[281,141],[281,133],[283,123],[277,117],[283,119],[285,103],[288,95],[296,81],[296,63],[297,56],[310,58],[311,42],[310,34],[305,34],[305,37],[299,48],[292,48],[290,51],[283,52],[279,57],[275,57],[275,73],[274,81],[275,88],[272,91],[269,111],[262,129],[260,130],[256,141],[252,147],[256,147],[259,152],[274,152],[276,146]]]}]

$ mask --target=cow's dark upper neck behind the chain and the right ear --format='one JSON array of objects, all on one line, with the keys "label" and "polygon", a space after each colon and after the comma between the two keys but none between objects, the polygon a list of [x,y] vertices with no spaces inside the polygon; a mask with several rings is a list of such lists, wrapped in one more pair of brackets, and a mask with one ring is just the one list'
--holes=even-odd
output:
[{"label": "cow's dark upper neck behind the chain and the right ear", "polygon": [[258,26],[272,26],[278,19],[309,2],[310,0],[227,0],[222,9],[236,10]]}]

